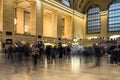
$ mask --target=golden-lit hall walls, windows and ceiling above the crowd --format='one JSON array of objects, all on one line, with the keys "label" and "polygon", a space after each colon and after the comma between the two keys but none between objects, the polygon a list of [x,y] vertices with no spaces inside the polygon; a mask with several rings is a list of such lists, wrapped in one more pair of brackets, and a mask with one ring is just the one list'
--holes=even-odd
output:
[{"label": "golden-lit hall walls, windows and ceiling above the crowd", "polygon": [[74,42],[92,45],[100,42],[100,38],[117,39],[120,36],[117,13],[119,7],[112,4],[112,0],[105,3],[97,0],[1,0],[1,45],[6,44],[7,39],[12,39],[13,44],[42,41],[52,45],[59,41],[64,45]]}]

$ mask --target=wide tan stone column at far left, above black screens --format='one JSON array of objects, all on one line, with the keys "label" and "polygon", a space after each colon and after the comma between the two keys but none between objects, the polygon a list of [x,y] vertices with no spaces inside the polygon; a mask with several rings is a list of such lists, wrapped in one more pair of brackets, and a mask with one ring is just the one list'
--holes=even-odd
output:
[{"label": "wide tan stone column at far left, above black screens", "polygon": [[[3,42],[6,38],[13,39],[14,37],[14,1],[15,0],[3,0]],[[7,36],[6,31],[12,32],[12,35]]]}]

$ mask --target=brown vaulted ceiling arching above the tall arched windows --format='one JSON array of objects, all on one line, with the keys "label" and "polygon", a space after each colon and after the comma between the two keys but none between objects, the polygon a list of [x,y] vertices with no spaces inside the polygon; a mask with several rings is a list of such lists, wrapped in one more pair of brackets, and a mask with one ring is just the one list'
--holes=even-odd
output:
[{"label": "brown vaulted ceiling arching above the tall arched windows", "polygon": [[[61,0],[56,0],[56,1],[61,1]],[[107,10],[109,4],[112,2],[112,0],[69,0],[71,3],[71,8],[82,12],[86,13],[87,9],[91,5],[98,5],[102,10]]]}]

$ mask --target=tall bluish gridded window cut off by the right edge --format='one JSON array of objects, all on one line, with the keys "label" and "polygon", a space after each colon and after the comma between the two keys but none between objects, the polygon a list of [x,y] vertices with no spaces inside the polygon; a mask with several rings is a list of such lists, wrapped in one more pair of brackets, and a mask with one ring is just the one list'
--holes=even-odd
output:
[{"label": "tall bluish gridded window cut off by the right edge", "polygon": [[120,31],[120,0],[114,0],[108,12],[108,31]]}]

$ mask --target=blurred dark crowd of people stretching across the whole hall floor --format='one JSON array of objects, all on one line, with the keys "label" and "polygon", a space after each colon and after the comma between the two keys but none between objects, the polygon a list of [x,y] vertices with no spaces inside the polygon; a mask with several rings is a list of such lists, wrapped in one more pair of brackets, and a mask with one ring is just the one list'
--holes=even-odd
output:
[{"label": "blurred dark crowd of people stretching across the whole hall floor", "polygon": [[24,62],[28,67],[28,71],[30,70],[30,62],[33,63],[33,69],[36,69],[38,62],[44,61],[45,58],[47,58],[48,63],[57,63],[56,59],[62,60],[65,58],[70,60],[71,55],[75,53],[77,56],[84,58],[84,63],[94,61],[94,67],[100,67],[101,58],[106,56],[106,53],[107,57],[110,55],[110,63],[120,63],[120,46],[114,45],[104,48],[100,45],[93,45],[74,48],[76,47],[62,47],[62,44],[54,47],[34,44],[30,47],[29,44],[16,43],[14,46],[5,47],[3,53],[5,53],[6,63],[16,64],[16,67],[19,67]]}]

